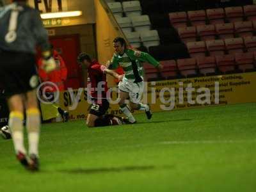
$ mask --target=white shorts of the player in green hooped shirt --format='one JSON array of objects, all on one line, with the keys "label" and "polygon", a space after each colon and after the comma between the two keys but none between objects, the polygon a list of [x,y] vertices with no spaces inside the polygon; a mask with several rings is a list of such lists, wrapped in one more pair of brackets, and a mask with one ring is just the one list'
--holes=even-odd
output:
[{"label": "white shorts of the player in green hooped shirt", "polygon": [[118,84],[118,89],[122,92],[129,93],[130,101],[137,104],[140,102],[144,92],[144,82],[134,83],[134,79],[124,78]]}]

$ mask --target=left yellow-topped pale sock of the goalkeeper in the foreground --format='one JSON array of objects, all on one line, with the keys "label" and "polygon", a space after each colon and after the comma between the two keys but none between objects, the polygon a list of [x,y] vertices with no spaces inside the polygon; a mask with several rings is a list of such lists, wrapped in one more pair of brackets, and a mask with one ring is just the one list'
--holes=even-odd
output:
[{"label": "left yellow-topped pale sock of the goalkeeper in the foreground", "polygon": [[16,154],[22,152],[26,154],[24,147],[24,135],[23,135],[23,119],[24,115],[20,111],[12,111],[9,115],[9,127],[12,131],[13,144]]}]

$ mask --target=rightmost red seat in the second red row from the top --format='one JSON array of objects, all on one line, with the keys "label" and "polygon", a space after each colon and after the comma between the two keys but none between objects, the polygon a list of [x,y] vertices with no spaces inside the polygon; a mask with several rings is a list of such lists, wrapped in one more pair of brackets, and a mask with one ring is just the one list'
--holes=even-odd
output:
[{"label": "rightmost red seat in the second red row from the top", "polygon": [[252,21],[237,21],[234,23],[235,33],[237,35],[244,36],[253,36],[253,25]]}]

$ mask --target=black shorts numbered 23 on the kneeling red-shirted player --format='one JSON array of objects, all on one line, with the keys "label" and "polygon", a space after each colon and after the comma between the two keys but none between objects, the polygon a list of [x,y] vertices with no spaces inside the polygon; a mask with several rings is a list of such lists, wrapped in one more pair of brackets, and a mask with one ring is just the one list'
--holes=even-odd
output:
[{"label": "black shorts numbered 23 on the kneeling red-shirted player", "polygon": [[92,115],[102,116],[109,109],[109,102],[107,99],[102,99],[102,102],[99,102],[97,99],[93,99],[93,104],[90,105],[88,111]]}]

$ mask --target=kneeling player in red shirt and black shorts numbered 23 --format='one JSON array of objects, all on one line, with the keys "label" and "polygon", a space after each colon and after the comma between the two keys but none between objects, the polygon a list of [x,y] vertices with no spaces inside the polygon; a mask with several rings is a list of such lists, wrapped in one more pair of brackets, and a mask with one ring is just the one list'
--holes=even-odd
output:
[{"label": "kneeling player in red shirt and black shorts numbered 23", "polygon": [[[122,81],[123,75],[119,76],[116,72],[109,70],[104,65],[100,65],[97,61],[92,61],[88,54],[82,52],[77,57],[79,65],[83,65],[88,69],[87,86],[90,88],[90,97],[92,105],[89,107],[89,114],[86,119],[88,127],[102,127],[108,125],[120,125],[127,122],[124,118],[114,115],[105,115],[109,109],[109,102],[107,98],[108,85],[106,82],[106,74],[109,74],[119,81]],[[98,84],[102,83],[104,88],[98,89]]]}]

